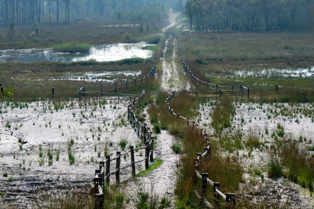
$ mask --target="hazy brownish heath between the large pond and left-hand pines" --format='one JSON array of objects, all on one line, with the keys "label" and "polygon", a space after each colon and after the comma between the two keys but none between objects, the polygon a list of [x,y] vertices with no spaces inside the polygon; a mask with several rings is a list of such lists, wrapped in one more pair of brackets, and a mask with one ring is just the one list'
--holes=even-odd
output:
[{"label": "hazy brownish heath between the large pond and left-hand pines", "polygon": [[[21,36],[13,42],[3,39],[0,42],[0,50],[48,48],[73,41],[89,45],[118,43],[124,41],[124,34],[126,33],[132,35],[132,40],[128,40],[128,42],[156,41],[156,39],[159,39],[159,35],[156,34],[160,33],[159,25],[162,23],[164,23],[164,20],[148,22],[150,25],[149,31],[139,32],[137,22],[117,22],[111,20],[80,20],[59,24],[44,22],[38,25],[44,28],[44,30],[43,33],[39,33],[37,36],[30,35],[33,23],[18,24],[16,29]],[[7,30],[8,24],[1,25],[3,33],[6,33]]]}]

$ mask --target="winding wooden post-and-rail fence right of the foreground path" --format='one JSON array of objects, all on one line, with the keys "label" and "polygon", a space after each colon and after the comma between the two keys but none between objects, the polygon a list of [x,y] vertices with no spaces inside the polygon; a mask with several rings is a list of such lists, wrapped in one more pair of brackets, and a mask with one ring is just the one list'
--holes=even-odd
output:
[{"label": "winding wooden post-and-rail fence right of the foreground path", "polygon": [[[249,88],[248,88],[249,89]],[[191,93],[195,93],[195,92],[191,92]],[[183,120],[187,121],[187,125],[191,125],[194,128],[198,128],[198,124],[196,124],[195,121],[190,121],[190,118],[184,118],[182,116],[180,116],[180,113],[175,114],[175,110],[173,110],[173,107],[170,106],[171,104],[169,102],[171,102],[172,99],[175,98],[175,92],[172,92],[171,94],[169,94],[169,96],[167,96],[167,98],[165,99],[166,104],[168,105],[168,109],[170,111],[170,114],[173,116],[176,116],[177,118],[181,118]],[[197,94],[197,93],[196,93]],[[199,131],[201,132],[201,134],[204,136],[204,140],[207,142],[208,146],[204,147],[204,153],[196,153],[196,158],[194,158],[194,167],[195,167],[195,179],[197,180],[198,178],[202,180],[202,188],[201,188],[201,195],[198,194],[198,192],[196,190],[194,190],[196,196],[203,201],[203,203],[210,207],[210,208],[219,208],[220,206],[220,197],[227,202],[226,208],[234,208],[236,201],[235,201],[235,197],[236,194],[235,193],[226,193],[223,194],[219,188],[220,188],[220,184],[218,182],[213,182],[212,180],[208,179],[208,173],[202,173],[202,175],[199,173],[199,163],[200,161],[206,157],[209,156],[209,158],[211,157],[211,143],[209,142],[209,138],[207,136],[207,133],[203,132],[203,129],[199,129]],[[195,184],[197,183],[197,181],[195,180]],[[214,191],[214,207],[206,200],[206,193],[207,193],[207,184],[210,184],[211,186],[213,186],[213,191]]]}]

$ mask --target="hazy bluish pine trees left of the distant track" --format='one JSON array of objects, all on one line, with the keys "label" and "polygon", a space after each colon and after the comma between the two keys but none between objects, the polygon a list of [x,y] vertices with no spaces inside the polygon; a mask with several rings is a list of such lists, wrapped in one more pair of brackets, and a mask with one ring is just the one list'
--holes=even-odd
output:
[{"label": "hazy bluish pine trees left of the distant track", "polygon": [[49,18],[59,22],[73,19],[160,20],[168,11],[168,2],[144,0],[1,0],[1,16],[6,23],[41,22]]}]

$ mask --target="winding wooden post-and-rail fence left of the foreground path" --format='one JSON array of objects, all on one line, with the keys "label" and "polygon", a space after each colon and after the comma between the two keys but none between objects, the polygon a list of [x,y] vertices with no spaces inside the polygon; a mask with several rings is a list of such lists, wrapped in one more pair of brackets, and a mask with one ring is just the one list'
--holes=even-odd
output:
[{"label": "winding wooden post-and-rail fence left of the foreground path", "polygon": [[[106,155],[105,156],[106,160],[99,162],[99,169],[95,169],[95,177],[94,177],[94,197],[95,197],[94,208],[95,209],[104,208],[104,198],[105,198],[104,190],[105,190],[105,186],[108,186],[110,184],[110,175],[115,174],[116,183],[118,184],[120,182],[120,170],[131,167],[132,175],[134,176],[136,174],[135,172],[136,163],[141,163],[145,161],[145,169],[148,169],[149,162],[152,163],[154,161],[153,132],[150,131],[150,127],[148,127],[146,123],[140,122],[138,120],[137,115],[135,115],[135,112],[133,110],[136,106],[135,102],[138,101],[138,104],[140,104],[143,97],[144,97],[144,94],[138,96],[137,98],[133,98],[129,102],[127,106],[127,112],[128,112],[127,120],[132,124],[134,131],[137,132],[137,136],[141,137],[144,140],[145,147],[139,147],[139,148],[134,149],[134,146],[130,146],[130,149],[127,150],[125,153],[121,153],[121,151],[117,151],[115,158],[110,159],[111,156]],[[141,150],[141,149],[145,149],[145,157],[142,160],[135,161],[134,151]],[[131,155],[131,163],[121,168],[120,166],[121,156],[124,156],[128,153],[130,153]],[[114,171],[111,172],[110,162],[113,160],[116,160],[116,166],[115,166]]]}]

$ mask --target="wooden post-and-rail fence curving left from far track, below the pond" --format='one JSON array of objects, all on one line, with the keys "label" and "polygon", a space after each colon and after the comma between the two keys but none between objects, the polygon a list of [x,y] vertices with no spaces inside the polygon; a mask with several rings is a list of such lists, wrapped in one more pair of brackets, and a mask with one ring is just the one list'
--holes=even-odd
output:
[{"label": "wooden post-and-rail fence curving left from far track, below the pond", "polygon": [[[153,75],[155,74],[155,61],[156,61],[156,56],[154,56],[154,62],[153,62],[153,67],[152,69],[150,70],[150,72],[148,73],[148,75],[146,75],[145,77],[141,77],[140,79],[133,79],[133,80],[129,80],[129,81],[125,81],[125,82],[120,82],[120,83],[109,83],[109,84],[100,84],[100,86],[90,86],[90,87],[86,87],[85,85],[82,85],[82,88],[80,88],[78,90],[78,92],[80,92],[79,94],[82,94],[82,96],[84,96],[86,93],[89,93],[89,92],[86,92],[86,88],[100,88],[99,90],[97,91],[92,91],[90,93],[104,93],[106,91],[111,91],[111,90],[114,90],[115,92],[117,91],[117,89],[119,88],[128,88],[128,87],[131,87],[131,86],[135,86],[135,85],[139,85],[139,84],[143,84],[145,82],[147,82],[147,78],[152,78]],[[145,80],[143,80],[143,78],[145,78]],[[140,81],[140,82],[138,82]],[[133,82],[132,85],[130,85],[131,83]],[[123,84],[125,83],[125,86],[122,86],[122,87],[117,87],[118,84]],[[114,85],[114,88],[110,88],[110,89],[107,89],[107,90],[103,90],[103,87],[104,86],[111,86],[111,85]]]}]

